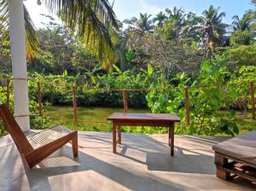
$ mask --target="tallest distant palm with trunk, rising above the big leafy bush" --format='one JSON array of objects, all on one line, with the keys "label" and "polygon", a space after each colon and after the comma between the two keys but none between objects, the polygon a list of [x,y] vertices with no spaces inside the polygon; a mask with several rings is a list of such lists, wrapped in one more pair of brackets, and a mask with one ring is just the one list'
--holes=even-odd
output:
[{"label": "tallest distant palm with trunk, rising above the big leafy bush", "polygon": [[228,25],[222,22],[225,13],[215,9],[212,5],[202,14],[200,26],[197,29],[202,34],[202,43],[204,46],[205,57],[212,58],[213,52],[218,42],[224,37],[225,29]]}]

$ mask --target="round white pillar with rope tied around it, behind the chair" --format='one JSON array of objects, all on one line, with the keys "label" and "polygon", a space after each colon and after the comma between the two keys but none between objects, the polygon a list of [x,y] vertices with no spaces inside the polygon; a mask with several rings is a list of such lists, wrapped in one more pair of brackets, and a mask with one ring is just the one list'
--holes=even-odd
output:
[{"label": "round white pillar with rope tied around it, behind the chair", "polygon": [[[8,0],[8,3],[13,77],[26,79],[26,37],[23,2],[22,0]],[[30,130],[26,80],[14,79],[14,100],[15,119],[23,131]]]}]

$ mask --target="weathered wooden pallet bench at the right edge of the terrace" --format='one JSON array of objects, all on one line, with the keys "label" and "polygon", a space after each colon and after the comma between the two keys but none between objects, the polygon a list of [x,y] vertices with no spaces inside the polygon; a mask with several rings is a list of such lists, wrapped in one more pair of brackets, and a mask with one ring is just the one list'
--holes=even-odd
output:
[{"label": "weathered wooden pallet bench at the right edge of the terrace", "polygon": [[216,176],[256,182],[256,131],[214,145]]}]

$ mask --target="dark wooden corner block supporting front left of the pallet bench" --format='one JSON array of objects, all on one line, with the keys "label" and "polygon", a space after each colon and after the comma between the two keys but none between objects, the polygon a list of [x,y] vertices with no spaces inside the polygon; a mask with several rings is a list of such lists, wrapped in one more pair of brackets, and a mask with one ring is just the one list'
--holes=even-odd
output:
[{"label": "dark wooden corner block supporting front left of the pallet bench", "polygon": [[230,179],[230,172],[223,169],[224,165],[228,164],[228,159],[218,153],[215,153],[214,163],[216,165],[216,177],[224,180]]}]

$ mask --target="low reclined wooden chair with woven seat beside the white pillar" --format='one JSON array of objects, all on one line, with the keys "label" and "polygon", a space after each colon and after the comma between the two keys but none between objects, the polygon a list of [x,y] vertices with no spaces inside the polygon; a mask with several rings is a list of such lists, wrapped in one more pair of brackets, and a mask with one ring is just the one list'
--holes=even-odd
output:
[{"label": "low reclined wooden chair with woven seat beside the white pillar", "polygon": [[20,125],[9,112],[9,108],[3,103],[0,103],[0,117],[3,119],[10,136],[12,136],[21,158],[26,160],[30,168],[67,142],[72,143],[73,156],[78,156],[78,131],[68,130],[57,125],[26,137],[20,129]]}]

